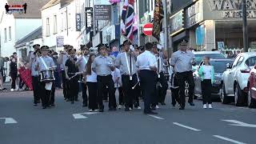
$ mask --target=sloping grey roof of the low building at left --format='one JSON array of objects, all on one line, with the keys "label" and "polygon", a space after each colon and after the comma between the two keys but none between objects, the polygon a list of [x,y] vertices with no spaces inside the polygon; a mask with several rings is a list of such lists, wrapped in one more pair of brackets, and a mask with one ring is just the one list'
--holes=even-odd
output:
[{"label": "sloping grey roof of the low building at left", "polygon": [[15,47],[26,45],[26,42],[30,42],[31,40],[42,38],[42,26],[38,27],[38,29],[32,31],[30,34],[27,34],[22,39],[18,40],[18,42],[15,43]]}]

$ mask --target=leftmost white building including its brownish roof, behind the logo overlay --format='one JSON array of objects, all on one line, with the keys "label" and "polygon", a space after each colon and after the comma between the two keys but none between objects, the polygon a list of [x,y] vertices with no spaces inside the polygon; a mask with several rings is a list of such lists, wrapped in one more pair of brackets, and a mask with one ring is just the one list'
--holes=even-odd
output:
[{"label": "leftmost white building including its brownish roof, behind the logo overlay", "polygon": [[1,6],[23,5],[27,3],[26,14],[6,14],[5,9],[0,9],[0,55],[9,57],[15,52],[15,42],[42,26],[40,8],[49,0],[1,0]]}]

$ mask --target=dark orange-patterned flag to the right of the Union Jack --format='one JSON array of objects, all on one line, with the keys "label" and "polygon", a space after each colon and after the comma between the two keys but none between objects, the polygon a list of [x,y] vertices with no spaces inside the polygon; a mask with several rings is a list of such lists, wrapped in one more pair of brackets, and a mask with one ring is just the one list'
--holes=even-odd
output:
[{"label": "dark orange-patterned flag to the right of the Union Jack", "polygon": [[160,40],[160,32],[162,31],[162,20],[164,17],[162,0],[155,0],[154,6],[154,21],[153,21],[153,36]]}]

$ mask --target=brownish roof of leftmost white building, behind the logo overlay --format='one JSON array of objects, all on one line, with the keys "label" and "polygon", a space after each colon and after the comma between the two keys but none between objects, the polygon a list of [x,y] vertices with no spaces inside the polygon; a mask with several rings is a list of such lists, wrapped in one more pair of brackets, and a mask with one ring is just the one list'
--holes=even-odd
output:
[{"label": "brownish roof of leftmost white building, behind the logo overlay", "polygon": [[27,4],[26,14],[14,13],[14,18],[41,18],[41,8],[50,0],[7,0],[9,5]]}]

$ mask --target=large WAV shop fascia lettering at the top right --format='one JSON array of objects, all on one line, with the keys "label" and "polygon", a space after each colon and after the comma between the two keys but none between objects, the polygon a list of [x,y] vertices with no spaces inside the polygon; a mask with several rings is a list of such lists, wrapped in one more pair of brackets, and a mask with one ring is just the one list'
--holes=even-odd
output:
[{"label": "large WAV shop fascia lettering at the top right", "polygon": [[[242,18],[242,1],[208,0],[212,10],[222,11],[222,18]],[[256,0],[246,0],[247,18],[256,18]]]}]

